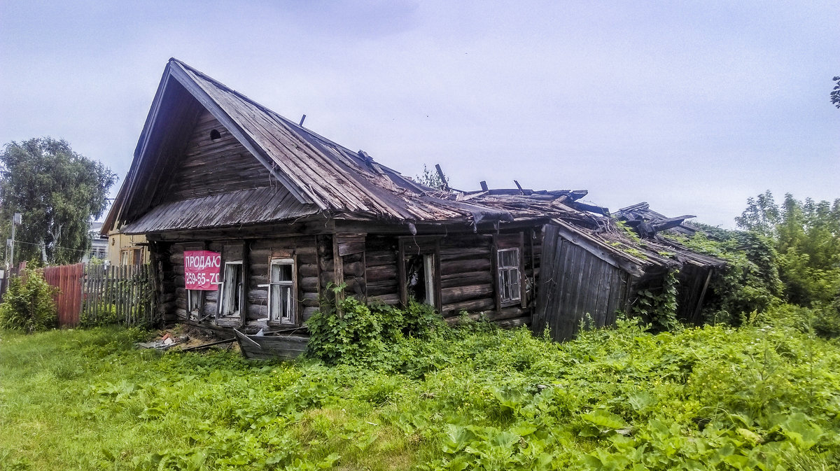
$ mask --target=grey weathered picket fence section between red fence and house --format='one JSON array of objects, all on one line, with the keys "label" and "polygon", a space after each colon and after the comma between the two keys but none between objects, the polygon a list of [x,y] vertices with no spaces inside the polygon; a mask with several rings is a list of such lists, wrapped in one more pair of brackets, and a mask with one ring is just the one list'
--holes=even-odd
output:
[{"label": "grey weathered picket fence section between red fence and house", "polygon": [[81,290],[81,319],[87,324],[155,322],[151,265],[88,264],[81,277]]}]

